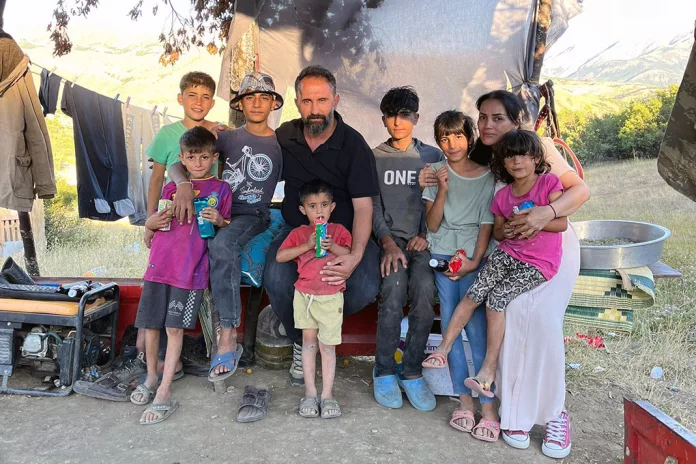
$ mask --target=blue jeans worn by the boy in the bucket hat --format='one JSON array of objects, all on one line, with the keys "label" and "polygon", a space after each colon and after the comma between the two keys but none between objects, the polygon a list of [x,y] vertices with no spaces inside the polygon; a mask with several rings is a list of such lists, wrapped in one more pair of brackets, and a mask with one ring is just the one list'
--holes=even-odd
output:
[{"label": "blue jeans worn by the boy in the bucket hat", "polygon": [[223,329],[237,328],[241,322],[239,285],[242,279],[242,247],[268,229],[269,225],[270,214],[267,210],[257,209],[256,214],[233,215],[227,227],[218,230],[215,237],[208,241],[210,289]]}]

